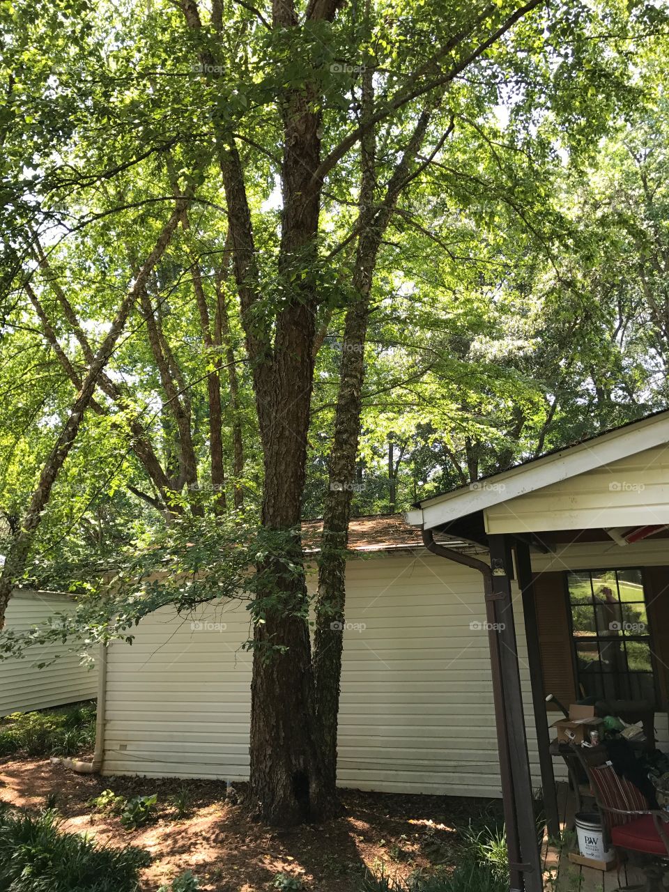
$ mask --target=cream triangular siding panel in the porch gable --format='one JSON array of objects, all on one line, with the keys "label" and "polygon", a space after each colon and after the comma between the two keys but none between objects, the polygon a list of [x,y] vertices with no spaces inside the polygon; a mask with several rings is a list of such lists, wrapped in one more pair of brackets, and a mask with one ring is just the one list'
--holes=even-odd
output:
[{"label": "cream triangular siding panel in the porch gable", "polygon": [[488,533],[669,524],[669,445],[502,501],[483,516]]}]

